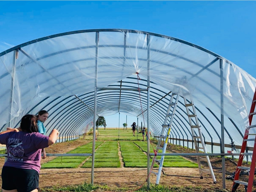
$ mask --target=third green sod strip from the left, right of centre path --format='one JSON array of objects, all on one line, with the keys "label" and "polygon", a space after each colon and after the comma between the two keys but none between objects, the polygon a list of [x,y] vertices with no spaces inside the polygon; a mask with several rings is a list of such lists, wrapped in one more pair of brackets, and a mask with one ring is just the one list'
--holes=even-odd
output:
[{"label": "third green sod strip from the left, right of centre path", "polygon": [[119,143],[124,167],[147,167],[147,156],[138,146],[132,141],[119,141]]}]

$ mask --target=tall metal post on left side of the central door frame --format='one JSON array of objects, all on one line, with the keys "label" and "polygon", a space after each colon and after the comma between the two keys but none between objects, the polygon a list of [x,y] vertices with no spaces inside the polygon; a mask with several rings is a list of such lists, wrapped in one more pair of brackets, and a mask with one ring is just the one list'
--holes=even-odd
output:
[{"label": "tall metal post on left side of the central door frame", "polygon": [[95,159],[95,131],[96,131],[96,110],[97,110],[97,81],[98,81],[98,48],[99,48],[99,32],[96,32],[96,49],[95,49],[95,82],[94,82],[94,111],[93,111],[93,138],[92,138],[92,177],[93,185],[94,177],[94,159]]}]

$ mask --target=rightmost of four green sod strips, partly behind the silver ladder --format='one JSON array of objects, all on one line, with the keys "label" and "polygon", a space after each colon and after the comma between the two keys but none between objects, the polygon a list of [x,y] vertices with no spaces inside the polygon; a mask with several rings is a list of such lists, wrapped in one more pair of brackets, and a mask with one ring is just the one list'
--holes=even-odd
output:
[{"label": "rightmost of four green sod strips, partly behind the silver ladder", "polygon": [[[147,152],[147,149],[148,149],[147,143],[142,142],[142,141],[134,141],[134,143],[136,145],[140,146],[140,148],[143,151]],[[155,145],[154,145],[154,147],[155,147]],[[150,149],[150,153],[154,153],[154,152],[151,152],[151,149]],[[156,159],[160,160],[161,156],[157,156]],[[165,156],[163,167],[192,167],[192,168],[194,168],[194,167],[198,167],[198,164],[188,161],[181,156]]]}]

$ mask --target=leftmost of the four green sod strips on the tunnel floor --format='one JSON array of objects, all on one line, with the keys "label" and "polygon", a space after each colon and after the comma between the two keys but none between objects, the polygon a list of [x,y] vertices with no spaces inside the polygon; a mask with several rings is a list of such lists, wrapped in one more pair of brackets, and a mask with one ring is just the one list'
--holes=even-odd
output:
[{"label": "leftmost of the four green sod strips on the tunnel floor", "polygon": [[[103,141],[95,142],[95,149],[98,148]],[[92,153],[92,142],[75,148],[68,153]],[[42,164],[42,168],[76,168],[81,164],[87,156],[63,156],[57,157],[52,161]]]}]

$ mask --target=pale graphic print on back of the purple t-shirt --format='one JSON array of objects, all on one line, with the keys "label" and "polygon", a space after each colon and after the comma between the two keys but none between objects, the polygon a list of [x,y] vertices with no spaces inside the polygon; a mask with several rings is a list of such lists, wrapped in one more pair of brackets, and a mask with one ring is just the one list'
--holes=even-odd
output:
[{"label": "pale graphic print on back of the purple t-shirt", "polygon": [[9,138],[8,139],[8,153],[10,160],[23,161],[24,149],[20,146],[22,141],[20,139]]}]

